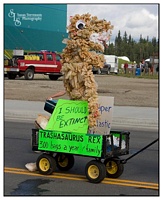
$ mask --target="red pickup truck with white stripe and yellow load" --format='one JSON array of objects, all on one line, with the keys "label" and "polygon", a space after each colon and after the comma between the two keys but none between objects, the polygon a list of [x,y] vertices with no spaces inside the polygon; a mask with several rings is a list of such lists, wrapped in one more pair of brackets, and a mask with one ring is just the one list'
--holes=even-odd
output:
[{"label": "red pickup truck with white stripe and yellow load", "polygon": [[24,55],[24,50],[14,50],[12,59],[5,62],[4,71],[9,79],[24,76],[32,80],[34,74],[48,75],[51,80],[57,80],[61,74],[61,56],[55,52],[42,50]]}]

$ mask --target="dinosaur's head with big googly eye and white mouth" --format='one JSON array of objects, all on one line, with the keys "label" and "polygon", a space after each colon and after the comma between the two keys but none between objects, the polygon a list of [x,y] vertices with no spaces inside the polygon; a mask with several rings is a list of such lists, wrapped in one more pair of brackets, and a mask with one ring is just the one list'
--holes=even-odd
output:
[{"label": "dinosaur's head with big googly eye and white mouth", "polygon": [[73,40],[84,39],[94,43],[107,43],[110,39],[113,26],[106,20],[99,20],[96,16],[91,16],[89,13],[83,15],[75,15],[70,18],[70,25],[67,27],[69,37]]}]

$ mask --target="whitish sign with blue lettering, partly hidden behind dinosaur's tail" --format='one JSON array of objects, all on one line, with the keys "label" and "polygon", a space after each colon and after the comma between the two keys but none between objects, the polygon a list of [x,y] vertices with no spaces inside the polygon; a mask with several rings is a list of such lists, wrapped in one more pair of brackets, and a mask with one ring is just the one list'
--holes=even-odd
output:
[{"label": "whitish sign with blue lettering, partly hidden behind dinosaur's tail", "polygon": [[110,133],[113,116],[114,97],[99,96],[100,119],[97,126],[90,129],[89,133],[106,135]]}]

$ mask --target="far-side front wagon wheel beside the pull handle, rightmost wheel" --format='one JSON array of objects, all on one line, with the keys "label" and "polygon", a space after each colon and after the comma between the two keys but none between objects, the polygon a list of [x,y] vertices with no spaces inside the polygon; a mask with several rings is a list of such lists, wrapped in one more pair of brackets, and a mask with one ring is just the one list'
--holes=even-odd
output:
[{"label": "far-side front wagon wheel beside the pull handle, rightmost wheel", "polygon": [[118,178],[123,173],[124,166],[118,158],[108,158],[104,161],[104,164],[108,178]]}]

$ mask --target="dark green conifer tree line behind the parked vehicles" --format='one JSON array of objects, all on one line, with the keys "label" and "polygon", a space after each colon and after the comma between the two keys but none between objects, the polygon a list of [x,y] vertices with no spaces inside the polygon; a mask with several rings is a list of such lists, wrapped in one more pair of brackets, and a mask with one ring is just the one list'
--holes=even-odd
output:
[{"label": "dark green conifer tree line behind the parked vehicles", "polygon": [[136,42],[131,35],[127,35],[126,31],[121,36],[120,30],[115,37],[115,42],[105,45],[104,52],[106,55],[127,56],[130,61],[136,61],[136,63],[150,56],[158,55],[158,53],[159,40],[156,40],[156,37],[153,37],[150,41],[148,36],[145,39],[140,35],[139,40]]}]

